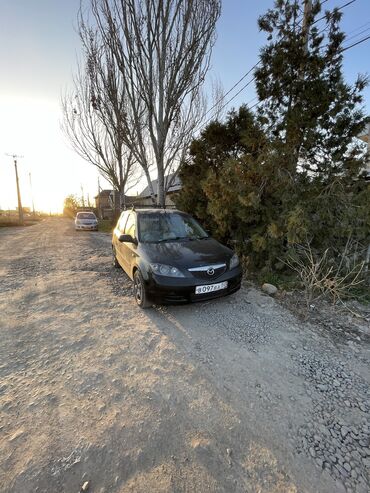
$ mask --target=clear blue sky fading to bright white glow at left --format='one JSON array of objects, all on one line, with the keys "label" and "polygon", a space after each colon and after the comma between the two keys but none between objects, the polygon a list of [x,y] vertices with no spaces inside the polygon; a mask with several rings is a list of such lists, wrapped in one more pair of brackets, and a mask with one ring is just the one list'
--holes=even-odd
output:
[{"label": "clear blue sky fading to bright white glow at left", "polygon": [[[17,205],[13,158],[6,154],[22,156],[18,171],[24,206],[31,206],[33,198],[37,210],[60,212],[64,198],[81,195],[81,187],[85,198],[97,194],[96,168],[75,154],[60,130],[60,96],[71,86],[80,50],[76,33],[79,3],[0,0],[0,209]],[[265,35],[258,31],[257,19],[273,3],[223,0],[209,81],[219,80],[225,92],[258,61]],[[327,0],[325,8],[344,3]],[[354,36],[346,44],[370,34],[370,0],[356,0],[343,13],[343,30],[348,37]],[[370,40],[344,53],[348,82],[358,73],[370,73],[369,53]],[[249,103],[254,96],[251,84],[227,108]],[[370,88],[364,96],[370,113]],[[101,186],[110,188],[103,179]]]}]

